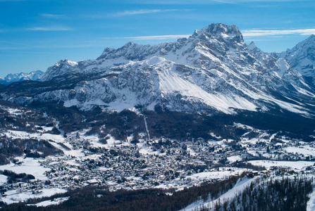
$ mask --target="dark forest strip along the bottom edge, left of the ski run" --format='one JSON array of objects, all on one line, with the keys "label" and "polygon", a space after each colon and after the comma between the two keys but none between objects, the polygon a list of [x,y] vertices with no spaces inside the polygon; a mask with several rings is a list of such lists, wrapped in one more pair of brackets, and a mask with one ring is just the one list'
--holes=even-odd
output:
[{"label": "dark forest strip along the bottom edge, left of the ski run", "polygon": [[[177,192],[173,189],[163,190],[155,188],[110,192],[104,191],[104,188],[89,186],[58,194],[51,198],[42,198],[42,200],[53,200],[53,198],[69,196],[69,200],[61,205],[35,207],[20,203],[5,206],[2,210],[180,210],[196,200],[202,198],[206,200],[209,195],[212,198],[217,198],[222,193],[233,188],[237,179],[244,176],[245,174],[242,174],[237,177],[230,177],[230,179],[224,181],[193,186]],[[28,203],[38,202],[39,200],[28,201]]]}]

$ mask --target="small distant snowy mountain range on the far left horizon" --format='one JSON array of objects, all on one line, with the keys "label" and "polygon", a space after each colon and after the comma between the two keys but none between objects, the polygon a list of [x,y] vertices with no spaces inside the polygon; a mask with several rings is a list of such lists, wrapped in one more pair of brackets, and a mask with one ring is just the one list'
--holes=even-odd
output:
[{"label": "small distant snowy mountain range on the far left horizon", "polygon": [[16,74],[8,74],[6,77],[0,77],[0,83],[2,84],[11,84],[13,82],[22,82],[22,81],[39,81],[42,79],[44,72],[41,70],[32,71],[29,73],[20,72]]}]

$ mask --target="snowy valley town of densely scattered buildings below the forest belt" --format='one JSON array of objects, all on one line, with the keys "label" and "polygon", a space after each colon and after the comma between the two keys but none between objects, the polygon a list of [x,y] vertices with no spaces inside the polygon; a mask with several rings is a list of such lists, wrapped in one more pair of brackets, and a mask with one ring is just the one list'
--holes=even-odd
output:
[{"label": "snowy valley town of densely scattered buildings below the forest belt", "polygon": [[139,143],[97,143],[96,146],[87,137],[73,134],[66,139],[67,146],[71,146],[68,153],[38,159],[42,167],[49,169],[44,173],[47,179],[4,184],[1,189],[32,190],[33,194],[45,188],[73,189],[89,185],[109,191],[154,187],[180,190],[249,171],[246,167],[249,160],[312,160],[311,155],[298,151],[303,147],[315,148],[312,143],[275,137],[258,131],[256,138],[249,139],[245,134],[239,141],[161,138],[142,139]]}]

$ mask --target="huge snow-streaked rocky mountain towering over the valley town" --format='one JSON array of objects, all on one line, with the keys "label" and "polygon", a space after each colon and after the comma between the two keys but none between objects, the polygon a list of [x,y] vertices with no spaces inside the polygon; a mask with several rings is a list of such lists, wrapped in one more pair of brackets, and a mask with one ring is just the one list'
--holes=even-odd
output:
[{"label": "huge snow-streaked rocky mountain towering over the valley town", "polygon": [[158,105],[185,113],[277,108],[309,115],[315,103],[314,90],[284,58],[247,46],[235,25],[220,23],[171,43],[129,42],[104,49],[96,60],[60,60],[42,82],[14,84],[1,97],[24,105],[53,101],[83,110]]}]

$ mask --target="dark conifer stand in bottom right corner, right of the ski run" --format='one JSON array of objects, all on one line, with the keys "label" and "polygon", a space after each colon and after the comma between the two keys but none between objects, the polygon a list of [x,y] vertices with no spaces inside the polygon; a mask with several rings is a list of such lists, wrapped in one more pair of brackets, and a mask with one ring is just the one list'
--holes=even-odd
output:
[{"label": "dark conifer stand in bottom right corner, right of the ski run", "polygon": [[283,178],[251,184],[230,201],[217,203],[220,211],[307,210],[313,179]]}]

